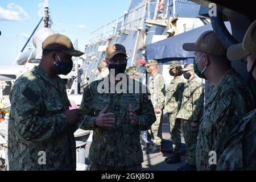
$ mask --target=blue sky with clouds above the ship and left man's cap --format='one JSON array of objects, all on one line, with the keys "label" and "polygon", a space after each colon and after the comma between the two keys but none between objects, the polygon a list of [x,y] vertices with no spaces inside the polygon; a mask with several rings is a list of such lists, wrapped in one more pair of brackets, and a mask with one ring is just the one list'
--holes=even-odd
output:
[{"label": "blue sky with clouds above the ship and left man's cap", "polygon": [[[13,63],[39,23],[43,2],[0,0],[0,64]],[[79,49],[84,51],[90,32],[122,16],[129,5],[130,0],[49,0],[51,28],[56,33],[69,36],[72,42],[78,39]]]}]

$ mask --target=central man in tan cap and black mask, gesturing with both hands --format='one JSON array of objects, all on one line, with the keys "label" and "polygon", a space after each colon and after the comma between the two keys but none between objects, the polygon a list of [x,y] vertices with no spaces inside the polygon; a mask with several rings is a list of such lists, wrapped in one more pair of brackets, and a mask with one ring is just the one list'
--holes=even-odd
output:
[{"label": "central man in tan cap and black mask, gesturing with both hands", "polygon": [[[81,103],[84,117],[80,127],[93,130],[89,151],[92,171],[142,169],[140,130],[150,129],[156,118],[146,88],[124,74],[126,57],[124,46],[110,44],[105,52],[109,77],[94,81],[84,89]],[[115,81],[115,76],[120,75],[123,77],[121,82],[128,81],[127,89],[118,93],[118,90],[112,90],[111,85],[118,86],[120,82]],[[130,80],[134,85],[129,84]],[[104,92],[100,88],[104,88]]]}]

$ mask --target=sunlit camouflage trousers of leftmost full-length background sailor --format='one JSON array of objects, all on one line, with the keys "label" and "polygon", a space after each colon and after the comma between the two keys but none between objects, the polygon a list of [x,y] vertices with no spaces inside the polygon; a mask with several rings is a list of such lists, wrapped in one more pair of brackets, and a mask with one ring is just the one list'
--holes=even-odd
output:
[{"label": "sunlit camouflage trousers of leftmost full-length background sailor", "polygon": [[151,130],[148,130],[150,133],[153,143],[157,146],[161,145],[162,142],[162,120],[163,120],[163,111],[159,114],[155,114],[156,121],[151,126]]}]

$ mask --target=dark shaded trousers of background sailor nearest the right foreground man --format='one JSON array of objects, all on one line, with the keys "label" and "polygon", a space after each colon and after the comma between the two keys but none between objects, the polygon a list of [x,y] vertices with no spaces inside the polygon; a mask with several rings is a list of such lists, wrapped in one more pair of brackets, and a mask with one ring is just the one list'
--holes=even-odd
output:
[{"label": "dark shaded trousers of background sailor nearest the right foreground man", "polygon": [[187,147],[187,160],[190,165],[196,165],[196,144],[199,133],[199,125],[191,126],[192,121],[181,119],[181,126],[183,130],[184,140]]}]

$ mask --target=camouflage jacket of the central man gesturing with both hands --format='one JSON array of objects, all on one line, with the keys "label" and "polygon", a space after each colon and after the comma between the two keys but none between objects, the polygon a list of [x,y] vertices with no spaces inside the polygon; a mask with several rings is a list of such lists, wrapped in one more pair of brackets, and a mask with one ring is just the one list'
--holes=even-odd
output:
[{"label": "camouflage jacket of the central man gesturing with both hands", "polygon": [[[80,128],[93,130],[93,141],[90,146],[89,159],[91,162],[102,166],[134,166],[143,162],[143,154],[140,142],[140,130],[150,129],[156,117],[154,107],[144,93],[110,93],[109,88],[105,93],[98,92],[98,85],[104,79],[89,84],[84,89],[81,109],[84,119]],[[105,78],[108,80],[108,77]],[[130,80],[130,79],[129,79]],[[104,81],[103,81],[104,82]],[[142,89],[141,82],[140,90]],[[109,81],[106,81],[109,83]],[[136,85],[136,84],[135,84]],[[144,88],[146,91],[146,87]],[[141,122],[140,126],[133,126],[129,119],[129,105],[134,106]],[[114,113],[115,123],[112,128],[95,127],[94,121],[101,110],[109,106],[108,113]]]}]

